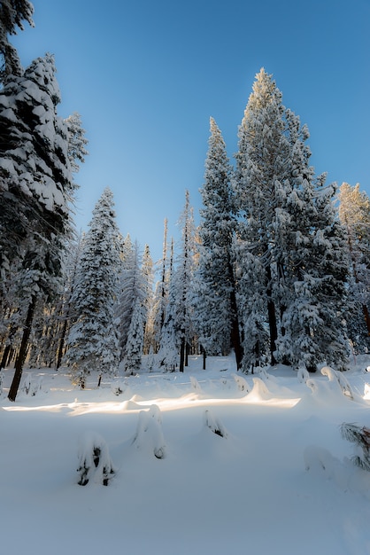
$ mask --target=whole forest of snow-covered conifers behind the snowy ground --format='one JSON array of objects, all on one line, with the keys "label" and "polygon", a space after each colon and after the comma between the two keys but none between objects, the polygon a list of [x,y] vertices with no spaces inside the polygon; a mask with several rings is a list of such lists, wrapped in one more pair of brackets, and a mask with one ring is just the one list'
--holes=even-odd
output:
[{"label": "whole forest of snow-covered conifers behind the snowy ground", "polygon": [[[15,7],[16,6],[16,7]],[[203,206],[189,192],[181,240],[164,225],[156,266],[115,220],[105,188],[78,236],[77,174],[88,156],[81,115],[58,116],[56,62],[23,69],[10,37],[33,24],[27,0],[2,2],[0,23],[0,369],[183,371],[188,356],[235,354],[238,371],[283,363],[345,371],[369,348],[370,200],[359,184],[315,175],[309,131],[273,75],[252,83],[235,159],[210,119]],[[235,126],[236,127],[236,126]],[[1,375],[1,372],[0,372]]]}]

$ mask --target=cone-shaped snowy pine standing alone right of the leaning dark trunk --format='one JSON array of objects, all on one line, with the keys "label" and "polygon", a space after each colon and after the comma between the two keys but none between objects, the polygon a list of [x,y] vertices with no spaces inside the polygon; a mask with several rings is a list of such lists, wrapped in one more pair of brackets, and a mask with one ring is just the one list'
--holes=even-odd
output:
[{"label": "cone-shaped snowy pine standing alone right of the leaning dark trunk", "polygon": [[93,210],[71,298],[78,316],[68,335],[66,363],[73,382],[80,387],[85,386],[91,370],[100,377],[113,376],[118,370],[115,314],[121,260],[113,206],[112,191],[107,187]]}]

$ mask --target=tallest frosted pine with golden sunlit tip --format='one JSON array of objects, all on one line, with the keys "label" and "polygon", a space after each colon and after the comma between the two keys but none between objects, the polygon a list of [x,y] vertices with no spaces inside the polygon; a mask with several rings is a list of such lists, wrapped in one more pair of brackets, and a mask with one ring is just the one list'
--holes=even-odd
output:
[{"label": "tallest frosted pine with golden sunlit tip", "polygon": [[[237,234],[246,241],[249,252],[263,261],[265,268],[266,311],[260,325],[268,325],[270,359],[275,363],[278,337],[278,307],[274,298],[277,282],[275,246],[276,184],[289,178],[289,141],[285,136],[284,106],[281,92],[272,76],[262,68],[239,128],[235,154],[235,203],[239,212]],[[238,261],[243,268],[243,261]],[[247,285],[247,282],[245,282]],[[240,291],[246,298],[249,291]],[[251,300],[252,301],[252,300]],[[248,307],[245,307],[248,311]],[[244,318],[245,319],[245,316]]]}]

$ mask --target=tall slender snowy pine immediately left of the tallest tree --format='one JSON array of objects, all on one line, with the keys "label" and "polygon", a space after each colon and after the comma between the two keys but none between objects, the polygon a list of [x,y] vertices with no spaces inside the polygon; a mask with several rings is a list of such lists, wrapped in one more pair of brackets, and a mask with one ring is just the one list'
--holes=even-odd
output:
[{"label": "tall slender snowy pine immediately left of the tallest tree", "polygon": [[235,302],[232,242],[235,229],[231,191],[232,168],[216,121],[210,120],[211,136],[205,160],[204,185],[200,190],[199,261],[194,279],[195,318],[200,343],[210,355],[235,349],[240,367],[242,349]]}]

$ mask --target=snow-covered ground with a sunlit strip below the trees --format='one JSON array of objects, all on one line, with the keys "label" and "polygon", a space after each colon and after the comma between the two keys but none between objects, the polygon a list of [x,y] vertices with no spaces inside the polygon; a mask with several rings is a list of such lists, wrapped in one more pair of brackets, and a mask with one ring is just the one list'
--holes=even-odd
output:
[{"label": "snow-covered ground with a sunlit strip below the trees", "polygon": [[[370,426],[370,357],[344,375],[353,399],[331,371],[305,382],[283,367],[237,374],[231,357],[207,364],[99,389],[92,374],[83,391],[63,370],[32,371],[16,403],[5,371],[0,552],[370,554],[370,473],[340,433]],[[79,453],[96,442],[82,487]]]}]

